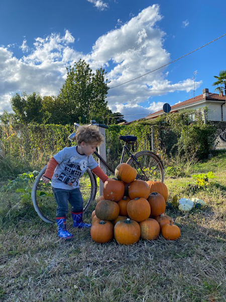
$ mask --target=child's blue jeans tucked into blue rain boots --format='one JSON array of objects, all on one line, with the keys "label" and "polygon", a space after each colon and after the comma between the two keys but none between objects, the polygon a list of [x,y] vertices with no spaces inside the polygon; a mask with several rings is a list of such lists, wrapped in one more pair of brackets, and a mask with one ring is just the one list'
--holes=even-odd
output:
[{"label": "child's blue jeans tucked into blue rain boots", "polygon": [[72,190],[64,190],[52,188],[57,202],[56,216],[64,217],[68,212],[68,201],[72,206],[72,211],[75,213],[82,212],[83,200],[79,188]]}]

